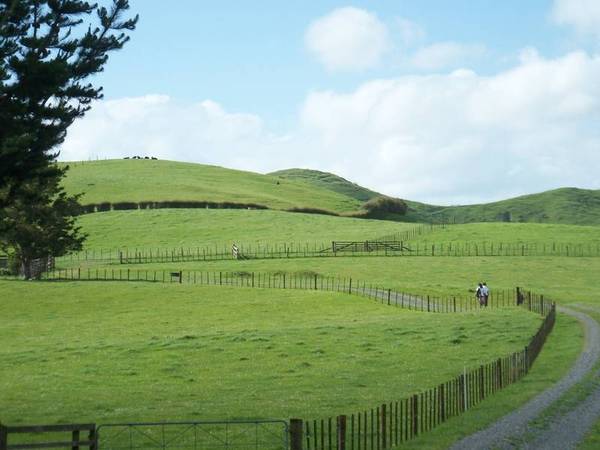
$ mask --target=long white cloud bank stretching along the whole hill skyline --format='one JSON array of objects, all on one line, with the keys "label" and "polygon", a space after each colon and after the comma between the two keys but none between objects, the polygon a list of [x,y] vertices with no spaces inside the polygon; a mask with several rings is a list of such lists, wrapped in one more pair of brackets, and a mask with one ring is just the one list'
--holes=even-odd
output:
[{"label": "long white cloud bank stretching along the whole hill skyline", "polygon": [[510,70],[457,70],[310,93],[289,135],[213,101],[101,101],[69,130],[62,159],[154,155],[270,171],[336,172],[389,195],[458,203],[558,186],[600,188],[600,56]]}]

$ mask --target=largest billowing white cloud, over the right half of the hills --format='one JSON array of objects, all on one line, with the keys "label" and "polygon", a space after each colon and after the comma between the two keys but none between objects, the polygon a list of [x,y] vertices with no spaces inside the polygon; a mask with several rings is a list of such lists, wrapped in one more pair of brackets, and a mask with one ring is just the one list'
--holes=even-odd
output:
[{"label": "largest billowing white cloud, over the right half of the hills", "polygon": [[[526,56],[526,57],[525,57]],[[341,175],[406,198],[473,202],[600,188],[600,57],[534,52],[492,77],[470,71],[314,92],[302,119]]]}]

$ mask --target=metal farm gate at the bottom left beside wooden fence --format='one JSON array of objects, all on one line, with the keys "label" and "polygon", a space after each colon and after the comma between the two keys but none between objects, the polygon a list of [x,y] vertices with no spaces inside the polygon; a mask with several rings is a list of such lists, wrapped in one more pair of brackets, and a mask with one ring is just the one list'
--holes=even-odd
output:
[{"label": "metal farm gate at the bottom left beside wooden fence", "polygon": [[283,420],[100,425],[98,450],[287,450]]}]

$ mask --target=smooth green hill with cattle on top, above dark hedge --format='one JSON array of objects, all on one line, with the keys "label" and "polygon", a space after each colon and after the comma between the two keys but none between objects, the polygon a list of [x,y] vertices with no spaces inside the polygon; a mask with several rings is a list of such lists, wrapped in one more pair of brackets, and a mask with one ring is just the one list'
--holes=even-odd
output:
[{"label": "smooth green hill with cattle on top, above dark hedge", "polygon": [[153,160],[69,163],[64,185],[83,204],[195,200],[257,203],[272,209],[355,211],[360,202],[302,180],[202,164]]}]

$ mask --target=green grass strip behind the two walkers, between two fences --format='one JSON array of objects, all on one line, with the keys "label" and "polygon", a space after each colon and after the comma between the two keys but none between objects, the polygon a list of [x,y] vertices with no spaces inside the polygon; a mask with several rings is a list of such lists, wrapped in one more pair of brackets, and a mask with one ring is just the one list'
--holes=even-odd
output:
[{"label": "green grass strip behind the two walkers, between two fences", "polygon": [[367,281],[416,294],[473,296],[478,281],[493,289],[522,286],[561,304],[600,305],[600,258],[559,257],[348,257],[188,263],[83,265],[136,270],[203,270],[316,273]]}]

